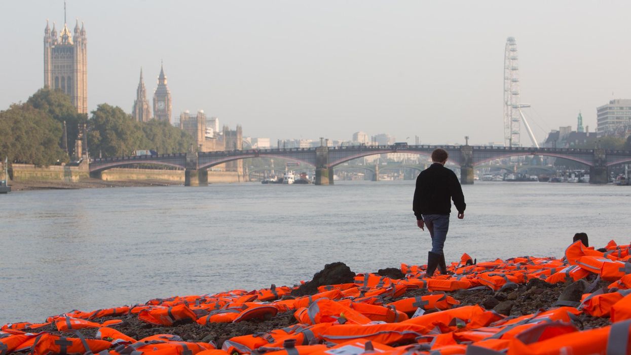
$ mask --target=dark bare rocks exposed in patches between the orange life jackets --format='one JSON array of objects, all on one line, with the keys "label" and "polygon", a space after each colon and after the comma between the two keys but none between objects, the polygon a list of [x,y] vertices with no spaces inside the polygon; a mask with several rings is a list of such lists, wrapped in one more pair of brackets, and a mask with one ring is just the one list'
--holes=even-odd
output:
[{"label": "dark bare rocks exposed in patches between the orange life jackets", "polygon": [[[551,260],[551,259],[550,259]],[[475,265],[473,265],[475,267]],[[402,265],[403,269],[403,265]],[[313,279],[308,282],[304,282],[300,286],[294,286],[291,288],[290,293],[285,293],[282,296],[276,298],[278,300],[298,300],[304,298],[304,296],[312,296],[322,292],[322,287],[330,287],[327,285],[339,285],[339,284],[361,284],[358,281],[358,277],[363,277],[359,274],[356,276],[355,272],[351,272],[350,269],[343,263],[338,262],[334,264],[328,264],[326,267],[317,272]],[[409,279],[410,274],[404,275],[401,269],[389,268],[382,269],[377,272],[370,273],[370,275],[380,276],[382,279],[392,280],[392,284],[398,280],[405,281]],[[591,274],[584,279],[577,281],[569,280],[567,282],[548,283],[541,278],[532,278],[528,282],[509,283],[504,284],[501,288],[474,288],[474,289],[457,289],[456,291],[445,291],[447,296],[451,296],[455,300],[459,301],[457,307],[463,306],[481,306],[485,310],[493,310],[498,314],[498,317],[507,317],[505,319],[512,319],[526,315],[533,315],[539,311],[546,311],[554,309],[559,306],[559,302],[576,303],[581,301],[585,293],[591,293],[600,288],[606,288],[611,282],[601,281],[597,274]],[[322,287],[321,287],[322,286]],[[269,290],[269,289],[265,289]],[[261,297],[262,290],[256,291]],[[273,293],[274,288],[271,288]],[[420,298],[420,296],[426,296],[429,294],[435,294],[428,290],[428,288],[408,288],[406,292],[398,294],[397,296],[380,296],[380,300],[384,304],[392,303],[398,300],[404,300],[407,298]],[[199,297],[199,296],[196,296]],[[147,305],[159,305],[162,301],[170,302],[170,300],[151,300]],[[156,303],[157,302],[157,303]],[[184,303],[188,304],[187,301]],[[439,312],[437,308],[425,310],[425,314]],[[221,346],[226,340],[233,337],[239,337],[241,335],[250,334],[265,334],[273,330],[283,329],[292,325],[298,324],[297,317],[295,316],[295,310],[278,311],[272,317],[261,317],[244,320],[239,323],[216,323],[210,322],[206,324],[200,324],[193,319],[176,320],[172,325],[156,325],[143,321],[139,318],[138,314],[126,313],[124,315],[117,315],[115,317],[101,317],[90,318],[90,322],[103,323],[108,320],[121,320],[121,323],[109,325],[110,328],[118,330],[123,334],[132,337],[133,339],[143,339],[151,335],[158,334],[170,334],[177,335],[181,340],[185,342],[201,342],[204,344],[210,343],[216,346],[217,349],[221,349]],[[581,314],[576,316],[572,323],[573,326],[579,330],[596,329],[611,325],[609,317],[592,317],[588,313],[580,312]],[[212,314],[212,312],[211,312]],[[59,332],[57,330],[58,325],[51,323],[44,327],[38,327],[37,329],[23,329],[25,331],[32,332],[48,332],[49,334],[60,335],[63,337],[77,337],[78,334],[70,332]],[[98,339],[97,328],[85,328],[78,330],[83,337],[87,339]],[[41,334],[41,333],[40,333]],[[112,339],[110,339],[112,340]],[[405,346],[410,344],[416,344],[415,340],[411,339],[405,342],[396,344],[390,344],[391,346]],[[27,354],[28,352],[14,352],[16,354]]]}]

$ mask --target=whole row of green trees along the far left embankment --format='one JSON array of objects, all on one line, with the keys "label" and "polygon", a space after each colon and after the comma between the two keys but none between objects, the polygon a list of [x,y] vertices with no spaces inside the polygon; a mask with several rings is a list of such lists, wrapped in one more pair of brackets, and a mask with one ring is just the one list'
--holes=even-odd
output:
[{"label": "whole row of green trees along the far left embankment", "polygon": [[196,147],[189,134],[169,122],[136,122],[122,108],[107,103],[98,105],[88,119],[77,112],[70,96],[44,88],[27,102],[0,111],[0,157],[37,166],[68,163],[75,155],[74,146],[84,124],[93,157],[131,155],[138,149],[180,153]]}]

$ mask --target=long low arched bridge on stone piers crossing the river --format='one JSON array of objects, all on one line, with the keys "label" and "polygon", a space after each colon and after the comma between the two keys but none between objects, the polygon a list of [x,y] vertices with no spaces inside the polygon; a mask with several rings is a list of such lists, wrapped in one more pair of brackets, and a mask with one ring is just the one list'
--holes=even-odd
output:
[{"label": "long low arched bridge on stone piers crossing the river", "polygon": [[460,166],[461,183],[473,183],[476,166],[511,156],[552,156],[577,161],[589,166],[591,183],[607,183],[608,168],[630,163],[631,151],[574,148],[526,148],[493,146],[320,146],[317,148],[247,149],[199,153],[156,154],[90,159],[90,175],[100,177],[100,172],[118,166],[133,164],[157,164],[174,166],[186,170],[186,186],[208,185],[208,168],[228,161],[247,158],[283,158],[295,160],[315,167],[315,184],[333,184],[333,169],[346,161],[387,153],[410,153],[430,156],[436,148],[449,153],[449,161]]}]

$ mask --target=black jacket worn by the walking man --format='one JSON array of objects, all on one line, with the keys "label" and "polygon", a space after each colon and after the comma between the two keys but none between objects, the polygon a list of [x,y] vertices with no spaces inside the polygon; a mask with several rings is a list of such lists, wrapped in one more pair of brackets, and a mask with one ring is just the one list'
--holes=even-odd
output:
[{"label": "black jacket worn by the walking man", "polygon": [[416,178],[412,209],[416,219],[422,214],[449,214],[451,199],[459,213],[464,212],[463,189],[456,174],[440,163],[433,163]]}]

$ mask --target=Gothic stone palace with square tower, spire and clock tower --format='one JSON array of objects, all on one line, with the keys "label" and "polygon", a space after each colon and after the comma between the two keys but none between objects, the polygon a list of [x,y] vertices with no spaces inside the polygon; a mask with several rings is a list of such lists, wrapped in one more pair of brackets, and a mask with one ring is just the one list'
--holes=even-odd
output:
[{"label": "Gothic stone palace with square tower, spire and clock tower", "polygon": [[[65,8],[64,8],[65,10]],[[57,35],[57,29],[53,23],[52,29],[46,21],[44,29],[44,87],[58,89],[68,94],[71,102],[79,113],[88,113],[88,60],[85,26],[77,20],[74,31],[71,32],[66,23],[64,14],[64,27]],[[153,115],[151,108],[153,108]],[[158,86],[153,92],[153,105],[149,105],[147,92],[144,86],[143,71],[140,70],[140,81],[136,90],[132,117],[138,122],[149,120],[162,120],[171,123],[172,100],[171,91],[168,90],[167,76],[164,68],[160,66]],[[216,117],[207,118],[203,110],[196,115],[188,111],[180,114],[180,129],[191,134],[198,151],[224,151],[242,149],[242,129],[230,130],[224,125],[219,131],[219,120]],[[81,129],[80,129],[81,131]],[[76,156],[81,156],[83,139],[77,139],[74,149]],[[225,163],[225,171],[242,172],[242,161]]]}]

